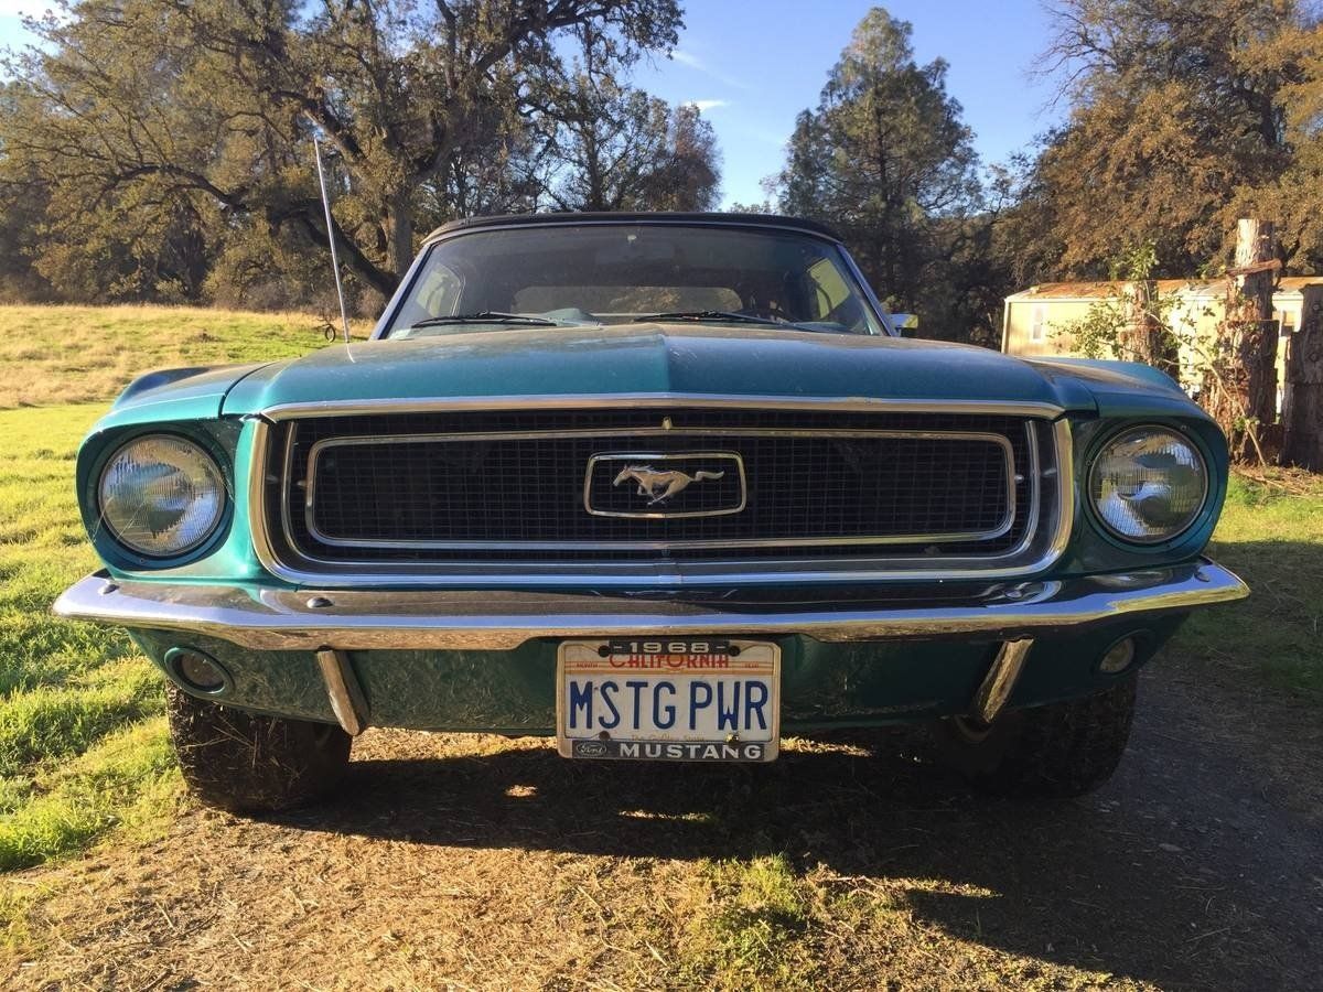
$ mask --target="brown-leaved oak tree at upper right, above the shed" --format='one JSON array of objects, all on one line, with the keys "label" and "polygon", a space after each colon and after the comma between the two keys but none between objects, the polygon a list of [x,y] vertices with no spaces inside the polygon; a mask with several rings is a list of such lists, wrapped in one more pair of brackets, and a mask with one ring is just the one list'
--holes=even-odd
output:
[{"label": "brown-leaved oak tree at upper right, above the shed", "polygon": [[[1236,218],[1261,213],[1252,204],[1304,149],[1290,104],[1310,78],[1314,5],[1060,0],[1053,19],[1041,67],[1069,115],[1037,160],[1041,220],[1061,247],[1050,275],[1101,275],[1143,243],[1175,276],[1229,259]],[[1323,247],[1304,226],[1283,262]]]}]

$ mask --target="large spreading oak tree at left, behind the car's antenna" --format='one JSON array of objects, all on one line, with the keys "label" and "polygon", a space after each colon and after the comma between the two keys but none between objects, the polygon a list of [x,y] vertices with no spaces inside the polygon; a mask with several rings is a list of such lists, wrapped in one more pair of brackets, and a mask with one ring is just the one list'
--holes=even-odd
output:
[{"label": "large spreading oak tree at left, behind the car's antenna", "polygon": [[[86,237],[98,262],[138,246],[126,267],[142,272],[146,255],[176,245],[167,255],[183,259],[202,231],[324,241],[315,132],[347,265],[388,292],[419,220],[480,205],[492,163],[529,151],[525,97],[561,34],[591,26],[627,60],[673,45],[679,25],[675,0],[81,0],[9,60],[4,167],[52,189],[53,267],[61,249],[86,255]],[[519,185],[491,188],[519,201]],[[169,274],[185,292],[205,254]]]}]

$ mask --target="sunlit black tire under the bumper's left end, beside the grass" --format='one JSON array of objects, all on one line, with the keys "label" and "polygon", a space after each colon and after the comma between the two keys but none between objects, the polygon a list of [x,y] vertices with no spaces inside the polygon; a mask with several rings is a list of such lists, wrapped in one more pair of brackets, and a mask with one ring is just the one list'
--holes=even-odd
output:
[{"label": "sunlit black tire under the bumper's left end, beside the grass", "polygon": [[184,782],[206,806],[275,812],[331,792],[349,763],[339,726],[266,717],[165,688],[171,738]]}]

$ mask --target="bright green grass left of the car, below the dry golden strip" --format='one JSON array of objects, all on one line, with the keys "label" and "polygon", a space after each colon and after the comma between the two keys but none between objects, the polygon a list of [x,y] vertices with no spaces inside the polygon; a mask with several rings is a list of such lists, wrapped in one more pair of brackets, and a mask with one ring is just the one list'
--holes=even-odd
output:
[{"label": "bright green grass left of the car, below the dry golden strip", "polygon": [[73,455],[99,406],[0,411],[0,869],[172,807],[161,685],[128,638],[50,603],[97,567]]}]

